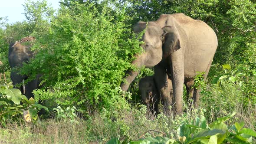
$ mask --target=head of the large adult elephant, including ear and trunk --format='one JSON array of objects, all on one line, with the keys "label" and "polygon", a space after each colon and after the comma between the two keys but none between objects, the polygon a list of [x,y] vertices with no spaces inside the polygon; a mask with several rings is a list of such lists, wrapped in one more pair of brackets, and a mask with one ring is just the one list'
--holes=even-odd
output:
[{"label": "head of the large adult elephant, including ear and trunk", "polygon": [[[171,52],[181,48],[181,39],[175,24],[173,26],[161,26],[157,21],[138,22],[134,27],[135,33],[140,33],[145,29],[145,33],[141,40],[144,44],[141,47],[144,52],[141,55],[136,55],[136,59],[132,62],[139,69],[141,66],[152,67],[157,65],[164,58],[170,55]],[[127,91],[130,83],[138,75],[138,71],[126,72],[126,82],[121,83],[121,89]]]}]

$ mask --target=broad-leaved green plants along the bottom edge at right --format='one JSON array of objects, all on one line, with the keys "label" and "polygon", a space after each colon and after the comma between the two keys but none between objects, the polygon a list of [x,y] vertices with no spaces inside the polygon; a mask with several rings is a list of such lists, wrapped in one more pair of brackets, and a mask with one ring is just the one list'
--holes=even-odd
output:
[{"label": "broad-leaved green plants along the bottom edge at right", "polygon": [[167,137],[148,137],[139,139],[138,141],[131,141],[128,138],[123,142],[118,138],[112,138],[107,144],[144,144],[144,143],[157,143],[157,144],[221,144],[221,143],[252,143],[253,137],[256,137],[256,132],[243,128],[244,122],[236,122],[230,128],[224,124],[229,118],[232,118],[236,113],[228,115],[223,118],[217,118],[211,124],[207,124],[204,117],[196,118],[195,121],[186,122],[177,128],[178,140],[170,139]]}]

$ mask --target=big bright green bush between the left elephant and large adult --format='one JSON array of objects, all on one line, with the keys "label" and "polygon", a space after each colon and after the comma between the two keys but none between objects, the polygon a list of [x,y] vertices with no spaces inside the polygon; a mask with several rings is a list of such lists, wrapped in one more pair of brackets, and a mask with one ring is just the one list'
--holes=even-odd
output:
[{"label": "big bright green bush between the left elephant and large adult", "polygon": [[23,66],[23,73],[43,74],[48,89],[34,91],[36,97],[90,111],[128,108],[118,87],[141,48],[126,19],[124,10],[108,3],[101,9],[89,2],[62,5],[49,32],[33,46],[39,51],[35,59]]}]

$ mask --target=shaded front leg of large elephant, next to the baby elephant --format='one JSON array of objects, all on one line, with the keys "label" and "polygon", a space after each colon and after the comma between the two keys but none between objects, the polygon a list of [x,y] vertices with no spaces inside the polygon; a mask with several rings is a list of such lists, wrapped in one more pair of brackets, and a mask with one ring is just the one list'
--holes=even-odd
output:
[{"label": "shaded front leg of large elephant, next to the baby elephant", "polygon": [[158,91],[161,96],[162,104],[164,105],[164,112],[169,113],[169,106],[172,103],[170,91],[168,88],[167,72],[165,67],[159,63],[154,66],[154,81],[157,85]]}]

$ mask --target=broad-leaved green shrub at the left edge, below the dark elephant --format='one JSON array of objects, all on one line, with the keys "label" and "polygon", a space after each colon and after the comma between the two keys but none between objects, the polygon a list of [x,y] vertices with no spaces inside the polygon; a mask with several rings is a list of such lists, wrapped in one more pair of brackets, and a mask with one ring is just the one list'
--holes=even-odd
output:
[{"label": "broad-leaved green shrub at the left edge, below the dark elephant", "polygon": [[0,122],[2,126],[5,126],[6,122],[19,118],[24,111],[26,111],[24,118],[27,122],[36,120],[38,110],[41,108],[48,111],[48,108],[35,102],[33,98],[27,99],[19,89],[13,88],[12,82],[0,85],[0,97]]}]

